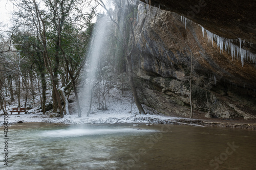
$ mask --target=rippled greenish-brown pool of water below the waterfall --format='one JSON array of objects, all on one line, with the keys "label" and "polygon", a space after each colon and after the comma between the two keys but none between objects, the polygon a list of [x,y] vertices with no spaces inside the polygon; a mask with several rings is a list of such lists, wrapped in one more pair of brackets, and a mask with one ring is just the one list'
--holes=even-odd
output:
[{"label": "rippled greenish-brown pool of water below the waterfall", "polygon": [[8,167],[2,161],[1,169],[256,169],[256,132],[249,130],[42,123],[8,130]]}]

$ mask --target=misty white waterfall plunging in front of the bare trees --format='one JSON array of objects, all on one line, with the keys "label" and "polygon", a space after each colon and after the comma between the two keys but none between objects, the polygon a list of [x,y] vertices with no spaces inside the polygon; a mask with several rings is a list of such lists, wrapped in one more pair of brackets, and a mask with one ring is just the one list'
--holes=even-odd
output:
[{"label": "misty white waterfall plunging in front of the bare trees", "polygon": [[[134,3],[137,1],[116,3],[114,10],[108,9],[106,4],[101,4],[108,15],[102,14],[94,28],[86,64],[87,75],[85,76],[86,83],[84,83],[86,85],[81,99],[82,112],[87,115],[91,112],[91,108],[94,111],[96,109],[95,105],[91,107],[92,96],[97,98],[94,103],[98,104],[98,110],[108,110],[105,100],[105,96],[108,95],[106,91],[115,87],[118,71],[126,69],[125,55],[129,54],[132,49],[129,43],[131,39],[129,24],[135,23],[136,15],[131,15],[131,13],[136,11]],[[113,15],[109,16],[110,14]],[[112,75],[114,72],[115,75]]]}]

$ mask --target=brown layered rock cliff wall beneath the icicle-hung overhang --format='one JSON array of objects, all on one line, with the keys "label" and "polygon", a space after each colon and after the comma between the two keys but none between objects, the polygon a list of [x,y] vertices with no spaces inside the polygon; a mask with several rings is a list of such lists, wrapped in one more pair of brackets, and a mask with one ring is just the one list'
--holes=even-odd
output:
[{"label": "brown layered rock cliff wall beneath the icicle-hung overhang", "polygon": [[[230,50],[220,52],[216,41],[209,42],[206,32],[202,33],[198,25],[202,21],[184,23],[181,18],[174,12],[138,5],[137,53],[133,60],[137,75],[145,82],[147,99],[144,103],[165,114],[188,116],[188,82],[192,71],[192,101],[196,115],[256,118],[255,62],[246,60],[242,66],[240,57],[232,58]],[[198,18],[194,16],[194,20]],[[208,25],[203,27],[216,34],[224,30],[219,35],[226,38],[237,36],[230,31],[236,28],[217,26],[216,29],[209,29]],[[251,30],[249,26],[248,30]],[[249,36],[253,31],[255,28],[241,35],[254,43],[254,35]],[[254,52],[253,44],[250,48],[246,45],[243,46],[246,50]]]}]

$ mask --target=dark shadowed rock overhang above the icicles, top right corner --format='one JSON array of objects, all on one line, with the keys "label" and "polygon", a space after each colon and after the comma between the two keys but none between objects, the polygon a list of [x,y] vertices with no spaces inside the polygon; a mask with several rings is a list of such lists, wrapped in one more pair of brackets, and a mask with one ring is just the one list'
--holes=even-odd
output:
[{"label": "dark shadowed rock overhang above the icicles, top right corner", "polygon": [[178,13],[222,37],[241,38],[256,52],[256,1],[140,0],[151,6]]}]

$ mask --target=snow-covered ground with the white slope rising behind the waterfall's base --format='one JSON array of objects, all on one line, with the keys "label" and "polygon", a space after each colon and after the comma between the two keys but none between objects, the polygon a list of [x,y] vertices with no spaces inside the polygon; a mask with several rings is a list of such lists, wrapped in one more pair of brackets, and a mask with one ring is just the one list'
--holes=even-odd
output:
[{"label": "snow-covered ground with the white slope rising behind the waterfall's base", "polygon": [[[50,99],[50,98],[49,98]],[[97,104],[93,103],[91,112],[87,116],[89,103],[84,103],[86,101],[82,96],[80,96],[80,104],[82,109],[82,116],[78,117],[76,102],[70,104],[70,115],[65,115],[63,118],[60,117],[51,117],[52,110],[48,111],[46,114],[40,112],[40,105],[38,102],[30,101],[29,105],[32,106],[32,109],[28,110],[28,113],[17,114],[14,112],[12,115],[8,115],[8,123],[13,124],[19,121],[24,123],[27,122],[46,122],[46,123],[61,123],[61,124],[113,124],[113,123],[172,123],[181,118],[179,117],[170,117],[165,116],[157,111],[154,111],[152,108],[143,106],[147,115],[138,114],[138,109],[135,103],[132,103],[132,93],[126,91],[124,94],[121,94],[118,88],[113,88],[110,91],[110,94],[107,96],[107,106],[108,110],[98,110]],[[95,99],[93,100],[95,101]],[[17,107],[14,102],[8,108]],[[184,119],[184,118],[182,118]],[[0,116],[0,123],[3,125],[4,116]]]}]

